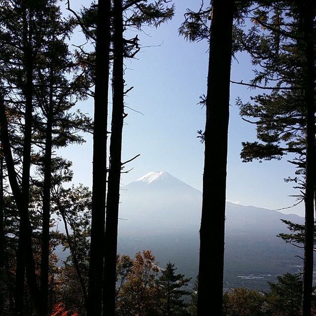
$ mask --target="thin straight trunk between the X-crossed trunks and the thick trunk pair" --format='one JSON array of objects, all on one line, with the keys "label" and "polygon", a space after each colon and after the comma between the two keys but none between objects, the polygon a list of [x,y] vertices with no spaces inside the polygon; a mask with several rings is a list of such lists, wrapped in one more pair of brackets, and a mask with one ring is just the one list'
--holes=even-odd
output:
[{"label": "thin straight trunk between the X-crossed trunks and the thick trunk pair", "polygon": [[48,267],[49,267],[49,220],[50,220],[50,188],[51,188],[51,154],[52,154],[52,119],[53,91],[50,87],[47,110],[46,139],[44,153],[44,186],[42,208],[42,236],[40,258],[40,292],[43,304],[43,316],[48,313]]}]

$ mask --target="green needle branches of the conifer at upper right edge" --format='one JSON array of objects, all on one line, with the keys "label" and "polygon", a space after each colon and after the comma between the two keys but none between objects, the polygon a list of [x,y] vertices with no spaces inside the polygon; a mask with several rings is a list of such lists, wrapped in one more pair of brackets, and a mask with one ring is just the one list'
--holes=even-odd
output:
[{"label": "green needle branches of the conifer at upper right edge", "polygon": [[[295,167],[294,181],[305,188],[306,81],[305,42],[300,4],[263,1],[251,12],[252,26],[243,25],[236,33],[239,50],[247,51],[254,66],[252,88],[271,90],[251,97],[250,102],[237,99],[240,115],[256,125],[256,142],[243,142],[244,162],[280,160],[287,154]],[[247,31],[244,29],[247,28]],[[269,85],[271,87],[269,87]],[[301,199],[301,197],[298,197]]]}]

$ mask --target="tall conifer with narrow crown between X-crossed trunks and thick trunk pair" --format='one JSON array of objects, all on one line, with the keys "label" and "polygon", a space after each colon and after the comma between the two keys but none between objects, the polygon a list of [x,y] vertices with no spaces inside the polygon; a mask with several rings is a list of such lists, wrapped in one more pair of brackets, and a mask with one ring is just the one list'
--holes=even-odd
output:
[{"label": "tall conifer with narrow crown between X-crossed trunks and thick trunk pair", "polygon": [[77,64],[66,43],[74,23],[63,20],[59,7],[55,5],[50,8],[46,24],[44,47],[38,52],[41,63],[36,67],[35,74],[34,100],[38,111],[33,124],[33,141],[40,148],[39,144],[44,144],[36,163],[40,165],[38,169],[43,178],[42,183],[39,181],[43,196],[40,292],[45,315],[48,313],[52,154],[55,148],[83,143],[78,131],[90,127],[90,119],[85,115],[79,111],[70,113],[78,99],[84,98],[87,83],[83,75],[78,74]]}]

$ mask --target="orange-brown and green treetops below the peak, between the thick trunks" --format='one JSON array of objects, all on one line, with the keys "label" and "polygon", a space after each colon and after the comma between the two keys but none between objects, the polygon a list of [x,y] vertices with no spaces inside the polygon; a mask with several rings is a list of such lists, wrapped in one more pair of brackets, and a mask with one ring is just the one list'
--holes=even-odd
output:
[{"label": "orange-brown and green treetops below the peak, between the thick trunks", "polygon": [[150,250],[138,252],[135,259],[118,256],[117,315],[185,316],[190,315],[185,288],[190,278],[175,274],[174,264],[160,270]]}]

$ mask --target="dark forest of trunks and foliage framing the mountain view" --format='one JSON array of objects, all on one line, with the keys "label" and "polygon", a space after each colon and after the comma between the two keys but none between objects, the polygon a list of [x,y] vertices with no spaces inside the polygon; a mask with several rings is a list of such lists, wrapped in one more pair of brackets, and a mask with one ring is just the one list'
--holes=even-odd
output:
[{"label": "dark forest of trunks and foliage framing the mountain view", "polygon": [[[207,88],[196,92],[205,127],[194,136],[204,153],[198,275],[161,266],[151,249],[118,253],[121,176],[139,157],[122,159],[124,119],[137,112],[126,102],[126,65],[141,63],[139,34],[170,22],[179,1],[0,0],[0,315],[316,315],[315,0],[187,8],[179,37],[208,45]],[[253,78],[237,82],[241,52]],[[223,286],[232,84],[253,92],[236,104],[257,138],[236,155],[292,165],[286,181],[305,209],[304,225],[284,221],[279,234],[304,250],[302,270],[263,292]],[[93,116],[80,108],[87,101]],[[75,184],[72,161],[59,155],[87,135],[91,187]]]}]

